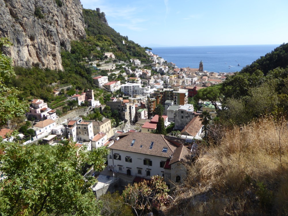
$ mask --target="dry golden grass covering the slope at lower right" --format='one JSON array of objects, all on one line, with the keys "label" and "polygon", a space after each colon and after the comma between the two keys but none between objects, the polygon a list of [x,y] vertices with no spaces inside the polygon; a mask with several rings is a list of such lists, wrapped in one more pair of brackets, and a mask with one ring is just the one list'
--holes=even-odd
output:
[{"label": "dry golden grass covering the slope at lower right", "polygon": [[167,215],[287,214],[287,171],[287,122],[281,130],[269,118],[235,127],[190,166]]}]

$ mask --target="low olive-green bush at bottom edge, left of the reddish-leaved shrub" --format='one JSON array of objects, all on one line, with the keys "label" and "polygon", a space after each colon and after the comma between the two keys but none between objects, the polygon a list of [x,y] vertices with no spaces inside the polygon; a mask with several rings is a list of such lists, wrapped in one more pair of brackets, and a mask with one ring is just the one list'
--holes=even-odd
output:
[{"label": "low olive-green bush at bottom edge, left of the reddish-leaved shrub", "polygon": [[133,216],[131,208],[124,204],[124,200],[118,191],[113,194],[110,192],[103,194],[100,197],[100,202],[102,203],[101,215],[103,216]]}]

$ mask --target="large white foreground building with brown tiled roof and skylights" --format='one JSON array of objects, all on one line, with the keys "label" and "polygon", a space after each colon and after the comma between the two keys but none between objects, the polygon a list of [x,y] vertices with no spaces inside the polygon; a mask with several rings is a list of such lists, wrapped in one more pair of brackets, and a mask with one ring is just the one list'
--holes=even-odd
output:
[{"label": "large white foreground building with brown tiled roof and skylights", "polygon": [[167,184],[183,182],[184,163],[191,156],[181,142],[161,134],[130,133],[109,147],[108,169],[146,179],[160,175]]}]

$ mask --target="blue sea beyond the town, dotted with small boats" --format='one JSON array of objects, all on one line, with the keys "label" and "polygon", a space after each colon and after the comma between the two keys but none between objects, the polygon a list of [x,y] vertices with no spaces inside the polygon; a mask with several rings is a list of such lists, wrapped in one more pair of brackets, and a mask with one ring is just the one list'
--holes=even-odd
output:
[{"label": "blue sea beyond the town, dotted with small boats", "polygon": [[[236,72],[271,52],[279,45],[152,47],[152,52],[176,66],[198,68],[202,60],[205,71]],[[238,64],[240,64],[238,66]]]}]

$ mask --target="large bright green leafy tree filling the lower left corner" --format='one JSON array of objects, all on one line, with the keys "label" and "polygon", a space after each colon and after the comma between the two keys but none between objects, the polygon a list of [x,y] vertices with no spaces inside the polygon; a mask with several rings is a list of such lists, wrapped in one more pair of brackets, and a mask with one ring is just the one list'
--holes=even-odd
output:
[{"label": "large bright green leafy tree filling the lower left corner", "polygon": [[[0,149],[5,152],[0,171],[6,176],[0,181],[1,215],[99,214],[91,190],[95,179],[80,173],[89,151],[67,141],[55,146],[1,142]],[[90,161],[99,162],[96,171],[103,168],[107,152],[92,153]]]}]

